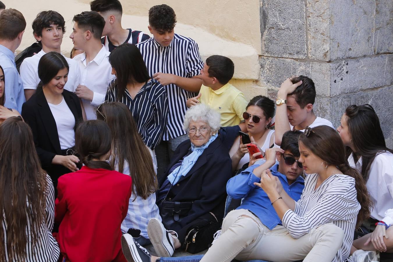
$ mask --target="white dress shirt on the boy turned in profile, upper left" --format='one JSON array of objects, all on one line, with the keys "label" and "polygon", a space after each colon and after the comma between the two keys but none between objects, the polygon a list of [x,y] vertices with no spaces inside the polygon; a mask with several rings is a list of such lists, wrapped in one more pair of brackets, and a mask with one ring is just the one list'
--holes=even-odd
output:
[{"label": "white dress shirt on the boy turned in profile, upper left", "polygon": [[87,86],[94,92],[92,102],[82,99],[87,120],[97,119],[95,109],[105,101],[108,85],[115,75],[112,75],[112,66],[109,63],[110,53],[102,46],[93,60],[86,65],[86,52],[73,58],[79,64],[81,80],[79,84]]}]

